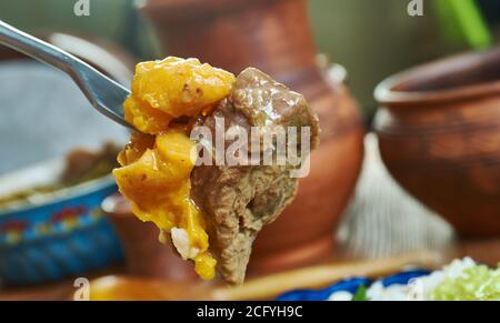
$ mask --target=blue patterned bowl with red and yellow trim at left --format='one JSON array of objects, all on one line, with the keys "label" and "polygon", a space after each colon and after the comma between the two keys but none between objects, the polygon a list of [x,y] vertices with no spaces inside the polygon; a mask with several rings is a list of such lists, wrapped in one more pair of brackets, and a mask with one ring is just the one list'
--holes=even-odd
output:
[{"label": "blue patterned bowl with red and yellow trim at left", "polygon": [[0,210],[1,283],[42,283],[120,261],[119,240],[100,208],[114,192],[108,175]]}]

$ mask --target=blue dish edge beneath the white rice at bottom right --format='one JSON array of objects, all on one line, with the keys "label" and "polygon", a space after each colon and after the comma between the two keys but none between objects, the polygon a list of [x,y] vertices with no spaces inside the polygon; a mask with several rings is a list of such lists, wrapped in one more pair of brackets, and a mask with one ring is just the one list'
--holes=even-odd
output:
[{"label": "blue dish edge beneath the white rice at bottom right", "polygon": [[[390,286],[392,284],[408,284],[412,279],[428,275],[430,272],[427,270],[412,270],[401,272],[394,275],[390,275],[381,279],[383,286]],[[354,294],[362,285],[370,286],[374,281],[367,277],[353,277],[342,280],[328,287],[321,290],[297,290],[281,294],[277,297],[277,301],[326,301],[334,292],[349,292]]]}]

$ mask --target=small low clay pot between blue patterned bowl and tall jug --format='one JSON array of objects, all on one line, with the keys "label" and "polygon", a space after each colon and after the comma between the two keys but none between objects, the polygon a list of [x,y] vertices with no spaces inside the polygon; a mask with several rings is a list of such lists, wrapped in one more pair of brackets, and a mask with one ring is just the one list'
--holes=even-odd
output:
[{"label": "small low clay pot between blue patterned bowl and tall jug", "polygon": [[183,261],[172,250],[171,243],[160,243],[158,228],[137,219],[122,195],[107,198],[102,209],[120,238],[128,274],[174,281],[197,280],[192,264]]}]

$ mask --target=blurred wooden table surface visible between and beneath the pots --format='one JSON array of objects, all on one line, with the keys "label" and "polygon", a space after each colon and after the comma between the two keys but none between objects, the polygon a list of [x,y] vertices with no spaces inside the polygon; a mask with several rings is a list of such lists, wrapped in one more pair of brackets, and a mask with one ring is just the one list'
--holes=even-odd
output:
[{"label": "blurred wooden table surface visible between and beneath the pots", "polygon": [[[363,170],[336,238],[337,260],[377,259],[427,249],[442,252],[448,260],[470,255],[490,265],[500,261],[500,238],[460,241],[447,222],[409,196],[383,166],[372,134],[367,135]],[[90,276],[117,272],[121,269]],[[73,282],[66,281],[3,291],[0,300],[68,300],[74,291]]]}]

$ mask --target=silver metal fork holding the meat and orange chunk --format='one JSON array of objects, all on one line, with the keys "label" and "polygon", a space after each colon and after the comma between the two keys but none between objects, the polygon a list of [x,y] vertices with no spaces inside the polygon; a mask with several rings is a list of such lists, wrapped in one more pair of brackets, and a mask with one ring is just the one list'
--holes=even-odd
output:
[{"label": "silver metal fork holding the meat and orange chunk", "polygon": [[22,32],[0,20],[0,44],[12,48],[66,72],[90,103],[111,120],[133,129],[124,120],[123,101],[130,91],[72,54]]}]

